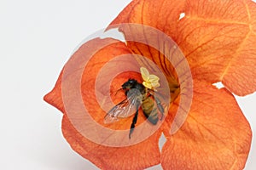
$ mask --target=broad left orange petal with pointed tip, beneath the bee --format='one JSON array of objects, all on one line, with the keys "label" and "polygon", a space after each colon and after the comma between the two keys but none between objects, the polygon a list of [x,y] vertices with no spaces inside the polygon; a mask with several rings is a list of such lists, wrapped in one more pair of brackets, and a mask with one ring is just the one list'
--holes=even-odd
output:
[{"label": "broad left orange petal with pointed tip, beneath the bee", "polygon": [[[96,50],[102,44],[105,44],[104,48]],[[95,50],[96,54],[94,54]],[[83,65],[84,58],[88,54],[92,56],[86,65]],[[113,94],[110,97],[114,104],[125,99],[124,92],[118,94],[116,92],[128,78],[135,78],[142,82],[139,73],[140,67],[136,59],[131,59],[131,52],[124,42],[97,38],[84,43],[73,54],[61,72],[55,88],[44,97],[49,104],[54,105],[64,113],[62,131],[73,150],[95,163],[97,167],[102,169],[123,169],[124,167],[142,169],[160,163],[158,146],[160,131],[141,143],[133,142],[140,139],[140,136],[144,136],[147,131],[147,128],[139,128],[140,124],[144,123],[146,127],[153,126],[145,122],[142,111],[140,111],[137,118],[137,128],[132,133],[131,139],[128,139],[128,134],[132,116],[109,125],[103,122],[106,115],[103,108],[111,106],[106,98],[109,91]],[[125,71],[125,68],[129,68],[129,70]],[[77,77],[77,72],[82,73],[81,77]],[[75,82],[79,83],[78,86]],[[108,84],[108,82],[110,83]],[[79,94],[76,96],[78,92]],[[82,103],[79,103],[79,100],[77,101],[79,98],[82,99]],[[86,116],[84,109],[77,109],[77,106],[81,104],[94,120],[93,125],[89,124],[87,119],[84,120],[84,116]],[[103,130],[118,129],[118,131],[111,131],[113,133],[107,135],[102,133],[103,130],[98,131],[98,129],[101,129],[98,126],[102,127]],[[118,139],[122,138],[118,135],[121,130],[126,130],[128,133],[124,133],[123,141],[119,142]],[[102,141],[102,143],[96,143],[97,141]],[[108,144],[115,145],[104,145],[105,141],[108,141]],[[113,143],[109,143],[109,141],[113,141]],[[130,142],[131,146],[119,147],[125,141]]]}]

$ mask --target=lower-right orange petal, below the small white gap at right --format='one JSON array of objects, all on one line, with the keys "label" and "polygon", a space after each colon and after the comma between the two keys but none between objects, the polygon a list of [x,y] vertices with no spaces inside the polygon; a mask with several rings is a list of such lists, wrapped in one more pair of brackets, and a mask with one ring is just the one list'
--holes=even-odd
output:
[{"label": "lower-right orange petal, below the small white gap at right", "polygon": [[[172,114],[177,107],[172,105]],[[186,122],[172,136],[167,130],[165,134],[164,169],[242,169],[252,139],[251,128],[233,95],[199,81],[194,83]]]}]

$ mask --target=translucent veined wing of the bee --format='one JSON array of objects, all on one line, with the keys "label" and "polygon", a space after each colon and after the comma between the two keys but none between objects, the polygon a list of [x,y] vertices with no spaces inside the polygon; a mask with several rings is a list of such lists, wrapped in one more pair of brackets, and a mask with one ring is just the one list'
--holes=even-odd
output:
[{"label": "translucent veined wing of the bee", "polygon": [[104,123],[119,121],[119,118],[125,118],[133,115],[141,105],[141,98],[137,94],[131,94],[126,99],[115,105],[104,117]]}]

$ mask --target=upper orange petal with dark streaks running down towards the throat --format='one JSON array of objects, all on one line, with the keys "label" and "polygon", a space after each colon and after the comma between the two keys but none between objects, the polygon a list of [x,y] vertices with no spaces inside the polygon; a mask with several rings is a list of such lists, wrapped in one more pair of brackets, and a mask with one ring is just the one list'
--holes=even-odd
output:
[{"label": "upper orange petal with dark streaks running down towards the throat", "polygon": [[[179,18],[179,14],[183,11],[185,5],[184,2],[185,1],[183,0],[160,0],[157,3],[155,3],[154,0],[132,1],[119,14],[119,16],[115,20],[113,20],[110,26],[120,23],[143,24],[145,26],[153,26],[154,28],[165,32],[168,36],[171,35],[171,37],[175,37],[177,36],[177,32],[172,30],[177,30],[177,20]],[[159,65],[161,70],[166,74],[166,77],[168,78],[170,84],[177,85],[177,75],[173,69],[172,64],[168,61],[168,59],[164,58],[163,54],[160,53],[160,51],[156,50],[163,49],[163,51],[168,53],[169,49],[172,47],[166,47],[166,44],[162,43],[157,44],[158,42],[161,42],[161,40],[158,40],[158,38],[160,37],[152,37],[152,32],[150,32],[149,30],[144,32],[145,30],[138,30],[138,28],[139,26],[135,26],[135,28],[131,28],[131,31],[129,30],[129,32],[124,32],[126,39],[127,37],[142,37],[142,39],[145,39],[148,42],[153,42],[155,46],[158,47],[152,48],[149,47],[148,44],[131,41],[127,43],[128,47],[131,48],[134,53],[141,54],[148,59],[151,59],[155,64]],[[123,30],[121,29],[121,31]],[[125,29],[125,31],[127,31],[127,29]],[[172,53],[174,53],[173,50],[171,50],[170,54]]]}]

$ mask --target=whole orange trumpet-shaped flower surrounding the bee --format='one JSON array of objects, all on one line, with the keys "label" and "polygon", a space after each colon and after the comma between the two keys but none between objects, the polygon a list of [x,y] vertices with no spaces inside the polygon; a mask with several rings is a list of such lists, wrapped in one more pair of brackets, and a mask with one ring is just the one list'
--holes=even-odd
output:
[{"label": "whole orange trumpet-shaped flower surrounding the bee", "polygon": [[[179,71],[184,75],[188,72],[178,66],[186,59],[173,65],[165,53],[131,41],[143,37],[177,57],[178,50],[166,46],[163,37],[155,38],[154,32],[120,25],[126,43],[111,38],[84,43],[61,71],[55,88],[44,97],[64,113],[62,132],[73,150],[102,169],[143,169],[159,163],[164,169],[242,169],[252,134],[231,93],[247,95],[256,90],[256,4],[249,0],[135,0],[111,26],[122,23],[154,27],[172,37],[181,48],[193,77],[189,114],[179,124],[176,117],[183,98],[192,97],[185,95],[188,88],[182,88],[189,77],[179,74]],[[134,54],[143,55],[146,60]],[[122,57],[115,59],[116,56]],[[161,94],[161,89],[168,89],[167,94],[161,95],[163,99],[171,96],[170,105],[165,105],[168,111],[160,128],[145,121],[143,111],[139,110],[137,128],[128,139],[133,116],[105,124],[106,111],[102,108],[111,108],[110,98],[114,104],[125,99],[125,94],[115,93],[129,78],[143,83],[138,70],[150,61],[156,65],[151,70],[159,67],[164,75],[158,75],[157,92]],[[124,67],[131,70],[125,71]],[[117,74],[119,71],[123,72]],[[108,75],[113,75],[113,79]],[[215,88],[214,82],[223,82],[225,88]],[[108,96],[109,92],[113,95]],[[106,129],[113,131],[102,133]],[[148,133],[151,135],[147,139]],[[160,151],[161,133],[166,143]]]}]

